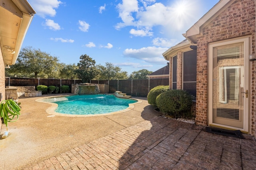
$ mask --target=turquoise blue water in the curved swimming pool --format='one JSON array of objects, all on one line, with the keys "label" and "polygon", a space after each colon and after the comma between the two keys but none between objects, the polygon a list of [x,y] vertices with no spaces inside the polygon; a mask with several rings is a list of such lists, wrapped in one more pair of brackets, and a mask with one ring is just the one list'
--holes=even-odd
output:
[{"label": "turquoise blue water in the curved swimming pool", "polygon": [[94,115],[120,111],[137,102],[132,99],[116,98],[114,95],[75,95],[44,99],[58,104],[55,112],[72,115]]}]

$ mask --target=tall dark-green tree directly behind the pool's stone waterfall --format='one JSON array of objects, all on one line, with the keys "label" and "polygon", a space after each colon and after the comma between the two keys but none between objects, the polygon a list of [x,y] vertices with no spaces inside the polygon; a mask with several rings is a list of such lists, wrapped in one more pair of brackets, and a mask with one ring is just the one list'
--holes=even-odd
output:
[{"label": "tall dark-green tree directly behind the pool's stone waterfall", "polygon": [[80,56],[80,63],[77,64],[76,74],[78,78],[82,79],[82,82],[88,82],[96,76],[95,64],[95,60],[88,55]]}]

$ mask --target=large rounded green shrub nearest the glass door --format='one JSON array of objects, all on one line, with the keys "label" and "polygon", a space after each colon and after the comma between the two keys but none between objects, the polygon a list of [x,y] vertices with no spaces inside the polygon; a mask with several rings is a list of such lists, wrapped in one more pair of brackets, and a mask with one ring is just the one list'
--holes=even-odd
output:
[{"label": "large rounded green shrub nearest the glass door", "polygon": [[174,118],[191,118],[191,95],[184,90],[169,90],[156,98],[156,105],[164,115]]}]

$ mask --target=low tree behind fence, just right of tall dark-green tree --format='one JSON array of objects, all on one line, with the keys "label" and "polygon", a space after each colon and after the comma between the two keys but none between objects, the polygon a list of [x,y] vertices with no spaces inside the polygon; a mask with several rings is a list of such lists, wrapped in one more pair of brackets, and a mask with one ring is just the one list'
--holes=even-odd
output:
[{"label": "low tree behind fence, just right of tall dark-green tree", "polygon": [[99,80],[124,80],[127,79],[127,72],[122,71],[119,66],[114,66],[112,63],[105,63],[105,66],[101,64],[97,65]]}]

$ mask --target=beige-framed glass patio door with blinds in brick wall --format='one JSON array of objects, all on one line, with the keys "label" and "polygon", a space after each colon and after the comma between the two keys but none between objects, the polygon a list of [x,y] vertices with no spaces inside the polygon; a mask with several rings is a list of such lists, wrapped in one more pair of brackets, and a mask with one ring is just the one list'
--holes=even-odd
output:
[{"label": "beige-framed glass patio door with blinds in brick wall", "polygon": [[[244,129],[245,111],[248,105],[248,86],[245,86],[244,42],[212,46],[212,84],[209,123]],[[247,80],[246,80],[247,81]],[[248,112],[247,112],[248,114]]]}]

